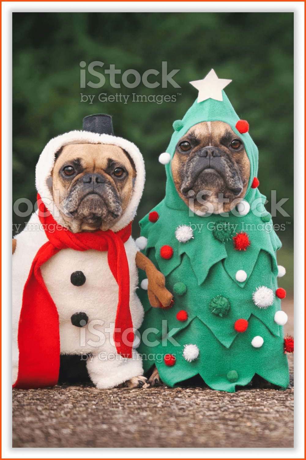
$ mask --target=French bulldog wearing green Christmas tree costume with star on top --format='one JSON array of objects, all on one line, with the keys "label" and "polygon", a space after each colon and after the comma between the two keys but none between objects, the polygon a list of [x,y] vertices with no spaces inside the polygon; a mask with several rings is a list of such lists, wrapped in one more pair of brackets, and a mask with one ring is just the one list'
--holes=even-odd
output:
[{"label": "French bulldog wearing green Christmas tree costume with star on top", "polygon": [[[200,374],[212,389],[234,392],[254,375],[286,388],[289,370],[276,251],[266,197],[258,190],[258,150],[213,70],[191,84],[199,97],[173,123],[166,196],[140,221],[143,253],[166,276],[170,308],[145,308],[138,351],[151,385]],[[150,328],[150,334],[147,334]],[[285,346],[284,346],[285,345]],[[288,343],[287,343],[288,345]]]}]

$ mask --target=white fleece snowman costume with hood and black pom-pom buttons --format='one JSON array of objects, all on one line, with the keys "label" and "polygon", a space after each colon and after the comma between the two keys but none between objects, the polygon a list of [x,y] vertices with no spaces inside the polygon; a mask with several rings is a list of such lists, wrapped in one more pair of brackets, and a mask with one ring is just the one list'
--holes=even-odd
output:
[{"label": "white fleece snowman costume with hood and black pom-pom buttons", "polygon": [[[50,140],[36,166],[36,188],[42,201],[58,224],[64,226],[52,196],[51,172],[56,152],[68,144],[112,144],[126,150],[136,167],[131,201],[121,219],[111,228],[114,232],[126,227],[136,214],[145,183],[145,166],[139,149],[126,139],[109,134],[71,131]],[[16,236],[13,254],[13,384],[18,374],[18,323],[22,307],[23,287],[32,261],[39,248],[48,241],[37,213],[33,213],[25,230]],[[130,277],[130,312],[133,327],[138,329],[144,311],[137,297],[138,272],[135,256],[139,250],[130,236],[124,243]],[[81,286],[71,282],[74,272],[82,272],[86,281]],[[134,376],[142,375],[141,356],[133,350],[132,358],[123,358],[113,342],[118,304],[118,285],[107,261],[107,251],[76,251],[61,249],[41,266],[45,285],[59,314],[61,354],[88,355],[86,365],[90,379],[98,388],[114,387]],[[88,322],[83,327],[72,324],[72,315],[84,312]],[[33,344],[35,347],[35,344]]]}]

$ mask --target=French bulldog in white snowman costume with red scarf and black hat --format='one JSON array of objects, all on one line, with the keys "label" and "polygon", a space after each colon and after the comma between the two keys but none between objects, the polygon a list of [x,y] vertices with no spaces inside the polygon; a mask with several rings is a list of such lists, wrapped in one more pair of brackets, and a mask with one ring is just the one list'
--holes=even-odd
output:
[{"label": "French bulldog in white snowman costume with red scarf and black hat", "polygon": [[85,360],[98,388],[145,384],[133,349],[144,314],[136,265],[152,305],[169,305],[172,294],[131,237],[144,182],[141,153],[114,136],[109,115],[85,117],[83,131],[46,145],[38,213],[13,240],[15,388],[56,385],[60,355]]}]

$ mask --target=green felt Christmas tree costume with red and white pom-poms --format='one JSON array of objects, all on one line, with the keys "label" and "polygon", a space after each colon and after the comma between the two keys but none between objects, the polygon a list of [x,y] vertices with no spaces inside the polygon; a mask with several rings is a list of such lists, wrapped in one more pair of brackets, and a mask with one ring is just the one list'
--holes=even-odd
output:
[{"label": "green felt Christmas tree costume with red and white pom-poms", "polygon": [[[145,372],[156,364],[161,380],[171,387],[200,374],[211,388],[234,392],[236,385],[247,385],[258,374],[286,388],[286,314],[279,298],[285,292],[277,286],[284,268],[276,261],[281,243],[264,208],[266,197],[257,188],[257,147],[248,132],[238,131],[239,117],[224,91],[222,96],[222,101],[195,101],[183,120],[173,123],[167,153],[172,159],[178,140],[197,123],[228,123],[250,160],[243,205],[228,217],[190,216],[173,183],[171,162],[166,164],[166,196],[140,226],[147,238],[143,253],[166,276],[174,304],[168,310],[152,308],[147,291],[139,288],[145,319],[138,351]],[[250,242],[242,250],[235,248],[237,233]],[[144,278],[140,270],[139,282]]]}]

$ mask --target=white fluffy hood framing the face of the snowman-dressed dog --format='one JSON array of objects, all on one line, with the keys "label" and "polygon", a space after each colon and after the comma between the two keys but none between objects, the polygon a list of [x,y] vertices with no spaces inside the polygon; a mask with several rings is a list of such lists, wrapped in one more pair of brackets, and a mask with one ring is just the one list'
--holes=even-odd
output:
[{"label": "white fluffy hood framing the face of the snowman-dressed dog", "polygon": [[135,144],[126,139],[112,136],[110,134],[98,134],[89,131],[70,131],[51,139],[39,156],[36,165],[36,189],[58,224],[64,225],[58,207],[52,196],[51,173],[55,163],[55,154],[63,146],[68,144],[110,144],[126,150],[131,155],[136,167],[136,179],[131,201],[122,214],[121,219],[111,227],[111,230],[118,231],[134,219],[139,201],[145,185],[145,163],[143,157]]}]

